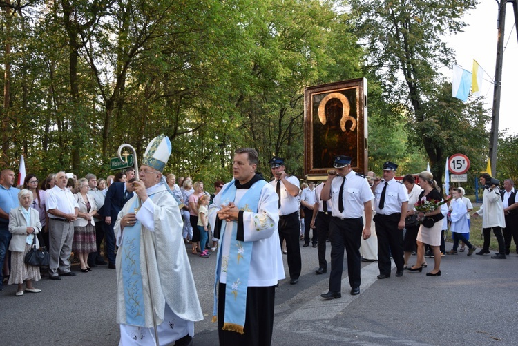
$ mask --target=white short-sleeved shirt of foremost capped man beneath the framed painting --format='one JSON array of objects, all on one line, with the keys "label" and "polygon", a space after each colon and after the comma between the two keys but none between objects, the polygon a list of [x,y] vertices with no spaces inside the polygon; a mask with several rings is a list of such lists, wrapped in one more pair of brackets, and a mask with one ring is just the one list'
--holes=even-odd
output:
[{"label": "white short-sleeved shirt of foremost capped man beneath the framed painting", "polygon": [[343,185],[343,212],[338,210],[338,195],[344,177],[336,175],[331,182],[332,215],[336,218],[356,219],[363,217],[363,204],[374,199],[367,179],[350,171]]}]

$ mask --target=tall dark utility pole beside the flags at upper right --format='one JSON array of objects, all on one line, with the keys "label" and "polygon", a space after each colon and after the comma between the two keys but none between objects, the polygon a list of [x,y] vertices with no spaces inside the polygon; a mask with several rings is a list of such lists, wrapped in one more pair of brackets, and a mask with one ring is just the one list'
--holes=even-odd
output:
[{"label": "tall dark utility pole beside the flags at upper right", "polygon": [[498,41],[497,41],[497,66],[495,67],[495,91],[493,92],[493,110],[491,118],[491,133],[489,140],[489,158],[491,160],[491,172],[497,175],[497,150],[498,150],[498,123],[500,118],[500,95],[502,84],[503,65],[503,39],[506,28],[506,5],[508,0],[496,0],[498,8]]}]

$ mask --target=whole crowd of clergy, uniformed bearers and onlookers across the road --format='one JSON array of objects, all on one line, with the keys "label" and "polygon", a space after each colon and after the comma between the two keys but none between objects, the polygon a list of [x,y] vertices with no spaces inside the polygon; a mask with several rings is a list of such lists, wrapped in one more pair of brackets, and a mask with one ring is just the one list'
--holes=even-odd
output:
[{"label": "whole crowd of clergy, uniformed bearers and onlookers across the road", "polygon": [[[106,180],[88,174],[73,182],[58,172],[41,182],[28,174],[17,188],[15,173],[1,171],[0,289],[7,282],[18,285],[16,296],[40,292],[33,286],[41,279],[40,269],[23,258],[33,244],[45,245],[51,280],[76,275],[70,270],[71,258],[77,259],[81,273],[98,265],[116,269],[122,345],[135,338],[155,343],[157,337],[161,344],[189,345],[194,322],[203,318],[185,251],[191,244],[189,252],[195,256],[217,253],[213,320],[218,321],[220,344],[269,345],[275,287],[285,278],[282,253],[287,254],[289,283],[296,285],[302,267],[300,240],[302,247],[318,248],[317,275],[327,273],[330,243],[329,291],[321,295],[325,300],[341,298],[345,255],[352,295],[360,294],[362,260],[377,260],[382,280],[392,275],[391,259],[395,276],[401,277],[405,269],[421,273],[430,257],[434,265],[426,275],[441,276],[448,226],[453,238],[448,254],[467,247],[471,256],[477,250],[469,241],[470,216],[483,217],[484,244],[477,255],[489,253],[491,229],[499,242],[492,258],[506,258],[512,239],[515,244],[518,240],[512,180],[505,180],[501,191],[499,182],[482,175],[483,203],[470,215],[472,204],[462,188],[452,188],[443,199],[432,173],[405,175],[399,182],[398,165],[390,161],[383,165],[383,178],[374,172],[365,177],[352,170],[352,157],[339,155],[327,180],[303,187],[286,173],[281,157],[270,160],[273,179],[267,182],[256,173],[257,152],[240,148],[234,154],[233,180],[218,180],[210,195],[203,182],[162,174],[170,155],[167,137],[153,139],[139,180],[134,169]],[[409,263],[412,253],[414,265]],[[134,270],[122,271],[121,266]],[[129,296],[133,290],[139,294]],[[174,327],[166,323],[171,320]]]}]

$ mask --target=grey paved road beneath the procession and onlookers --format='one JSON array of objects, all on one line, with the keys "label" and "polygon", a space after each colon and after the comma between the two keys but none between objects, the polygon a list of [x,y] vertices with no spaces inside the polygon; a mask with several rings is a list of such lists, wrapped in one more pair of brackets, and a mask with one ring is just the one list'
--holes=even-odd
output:
[{"label": "grey paved road beneath the procession and onlookers", "polygon": [[[329,243],[327,243],[329,244]],[[451,244],[447,244],[447,249]],[[329,247],[328,247],[329,257]],[[274,345],[516,345],[518,255],[446,256],[442,276],[405,272],[377,280],[377,264],[363,262],[359,296],[349,296],[344,265],[343,296],[323,301],[329,271],[317,276],[316,249],[302,248],[297,285],[276,289]],[[195,345],[218,345],[211,323],[215,256],[189,254],[205,319],[195,325]],[[286,256],[284,256],[286,261]],[[411,263],[415,256],[412,256]],[[432,259],[427,259],[432,265]],[[285,262],[285,268],[287,265]],[[0,292],[2,345],[117,345],[115,271],[99,266],[75,277],[35,284],[39,294]],[[394,274],[394,271],[392,272]]]}]

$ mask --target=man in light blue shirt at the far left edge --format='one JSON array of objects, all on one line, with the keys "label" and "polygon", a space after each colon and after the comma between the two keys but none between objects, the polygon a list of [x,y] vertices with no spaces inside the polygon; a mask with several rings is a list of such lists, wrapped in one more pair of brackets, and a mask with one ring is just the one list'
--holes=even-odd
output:
[{"label": "man in light blue shirt at the far left edge", "polygon": [[[15,184],[15,172],[10,169],[4,169],[0,173],[0,291],[2,290],[3,281],[3,264],[4,260],[9,263],[9,242],[12,234],[9,231],[9,213],[11,209],[19,206],[18,193],[19,189],[13,187]],[[6,265],[8,268],[9,265]],[[6,270],[6,274],[9,271]]]}]

